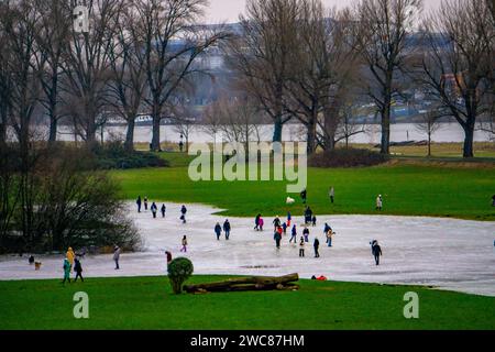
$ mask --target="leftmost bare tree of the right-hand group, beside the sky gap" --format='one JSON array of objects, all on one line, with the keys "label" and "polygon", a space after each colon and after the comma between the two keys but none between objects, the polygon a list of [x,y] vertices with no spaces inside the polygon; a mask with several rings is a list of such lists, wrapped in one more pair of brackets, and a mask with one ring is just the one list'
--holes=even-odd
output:
[{"label": "leftmost bare tree of the right-hand group, beside the sky gap", "polygon": [[242,34],[227,46],[228,63],[239,88],[249,92],[274,123],[274,142],[282,141],[284,96],[297,45],[298,0],[249,0],[241,15]]}]

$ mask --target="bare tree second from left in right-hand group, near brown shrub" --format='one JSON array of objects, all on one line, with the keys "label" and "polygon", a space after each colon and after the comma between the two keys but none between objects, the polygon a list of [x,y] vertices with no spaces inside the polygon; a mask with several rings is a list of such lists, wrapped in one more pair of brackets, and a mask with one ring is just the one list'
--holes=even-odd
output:
[{"label": "bare tree second from left in right-hand group, near brown shrub", "polygon": [[359,52],[348,9],[324,11],[319,0],[302,0],[300,8],[286,109],[307,128],[311,154],[318,144],[334,146],[341,101],[351,92]]}]

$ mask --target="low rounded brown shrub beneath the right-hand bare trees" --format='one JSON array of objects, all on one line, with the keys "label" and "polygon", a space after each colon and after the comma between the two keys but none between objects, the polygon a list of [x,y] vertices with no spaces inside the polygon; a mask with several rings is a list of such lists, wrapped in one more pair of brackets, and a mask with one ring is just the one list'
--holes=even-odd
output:
[{"label": "low rounded brown shrub beneath the right-hand bare trees", "polygon": [[387,161],[386,155],[370,150],[339,148],[314,154],[308,164],[314,167],[359,167],[380,165]]}]

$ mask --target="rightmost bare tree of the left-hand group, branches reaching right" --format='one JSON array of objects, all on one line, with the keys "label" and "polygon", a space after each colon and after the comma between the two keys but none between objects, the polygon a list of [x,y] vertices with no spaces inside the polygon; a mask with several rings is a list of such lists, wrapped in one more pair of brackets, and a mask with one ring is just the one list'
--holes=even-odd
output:
[{"label": "rightmost bare tree of the left-hand group, branches reaching right", "polygon": [[221,30],[211,32],[196,25],[206,3],[205,0],[133,0],[144,50],[154,151],[160,150],[165,106],[184,79],[204,70],[194,65],[200,55],[227,37]]}]

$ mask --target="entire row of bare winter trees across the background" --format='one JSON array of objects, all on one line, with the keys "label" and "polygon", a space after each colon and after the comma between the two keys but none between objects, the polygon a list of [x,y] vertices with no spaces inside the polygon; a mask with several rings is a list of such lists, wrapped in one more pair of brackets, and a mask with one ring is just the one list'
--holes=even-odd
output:
[{"label": "entire row of bare winter trees across the background", "polygon": [[[86,33],[74,28],[77,4],[89,10]],[[492,0],[444,0],[429,14],[422,14],[421,0],[361,0],[342,10],[327,10],[320,0],[249,0],[240,33],[198,25],[206,4],[2,1],[0,141],[11,128],[26,150],[41,112],[50,120],[50,141],[65,119],[90,144],[106,119],[118,114],[128,123],[131,150],[135,118],[145,113],[153,120],[152,148],[160,150],[161,121],[183,109],[195,77],[206,73],[204,54],[217,45],[233,74],[229,88],[239,91],[234,106],[249,105],[233,107],[238,116],[227,121],[253,131],[263,114],[273,120],[273,140],[282,141],[283,125],[297,119],[309,153],[333,148],[349,107],[366,96],[381,120],[381,151],[388,154],[394,97],[406,87],[422,90],[438,116],[459,122],[466,157],[473,156],[476,121],[493,119]],[[222,106],[232,98],[227,100],[209,107],[206,120],[229,111]],[[257,117],[239,121],[252,114]],[[229,131],[245,139],[245,131]]]}]

